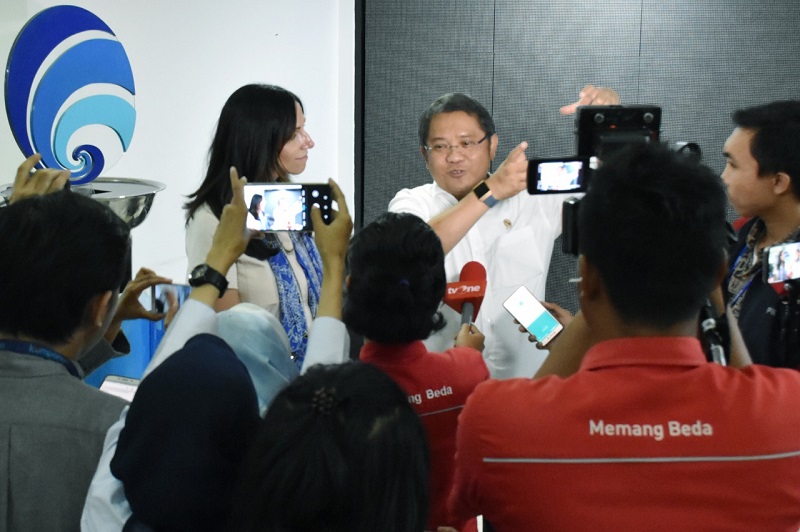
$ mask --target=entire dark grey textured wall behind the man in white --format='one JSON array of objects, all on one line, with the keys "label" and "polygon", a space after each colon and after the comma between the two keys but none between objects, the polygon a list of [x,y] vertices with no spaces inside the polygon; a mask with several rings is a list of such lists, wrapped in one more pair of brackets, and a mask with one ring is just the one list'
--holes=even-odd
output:
[{"label": "entire dark grey textured wall behind the man in white", "polygon": [[[558,108],[593,83],[662,106],[662,139],[698,142],[721,171],[732,110],[800,98],[797,28],[796,0],[368,0],[364,220],[430,180],[417,118],[451,91],[492,112],[495,166],[522,140],[529,156],[574,153],[573,119]],[[575,310],[575,259],[556,247],[547,297]]]}]

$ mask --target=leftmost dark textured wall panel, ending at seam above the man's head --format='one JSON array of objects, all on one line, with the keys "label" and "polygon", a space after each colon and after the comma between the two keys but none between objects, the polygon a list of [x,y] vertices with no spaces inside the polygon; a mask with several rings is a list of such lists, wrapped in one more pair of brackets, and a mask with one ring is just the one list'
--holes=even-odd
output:
[{"label": "leftmost dark textured wall panel, ending at seam above the man's head", "polygon": [[493,27],[490,2],[366,3],[365,223],[431,180],[417,125],[432,100],[460,91],[491,105]]}]

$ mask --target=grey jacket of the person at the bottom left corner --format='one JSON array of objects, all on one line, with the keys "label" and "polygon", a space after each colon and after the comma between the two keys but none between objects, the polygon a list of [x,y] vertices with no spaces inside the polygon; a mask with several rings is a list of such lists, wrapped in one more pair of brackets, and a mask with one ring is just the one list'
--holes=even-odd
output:
[{"label": "grey jacket of the person at the bottom left corner", "polygon": [[0,532],[79,530],[125,401],[49,360],[0,351]]}]

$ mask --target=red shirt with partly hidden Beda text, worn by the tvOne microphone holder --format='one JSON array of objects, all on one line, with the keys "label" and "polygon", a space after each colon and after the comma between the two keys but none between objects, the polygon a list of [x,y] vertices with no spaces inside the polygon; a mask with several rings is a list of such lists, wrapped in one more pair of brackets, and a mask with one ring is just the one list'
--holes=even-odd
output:
[{"label": "red shirt with partly hidden Beda text, worn by the tvOne microphone holder", "polygon": [[392,377],[422,418],[431,453],[431,511],[427,529],[446,525],[460,530],[477,514],[453,520],[447,512],[447,496],[453,486],[456,426],[467,396],[489,378],[483,356],[470,347],[430,353],[422,342],[401,345],[368,342],[359,358]]}]

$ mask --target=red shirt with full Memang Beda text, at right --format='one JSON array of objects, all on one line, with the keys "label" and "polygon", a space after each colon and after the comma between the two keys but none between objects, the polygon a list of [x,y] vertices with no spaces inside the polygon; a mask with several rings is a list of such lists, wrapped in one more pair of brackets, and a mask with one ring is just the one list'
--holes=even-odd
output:
[{"label": "red shirt with full Memang Beda text, at right", "polygon": [[498,532],[796,532],[800,372],[627,338],[566,379],[488,381],[459,418],[450,505]]}]

